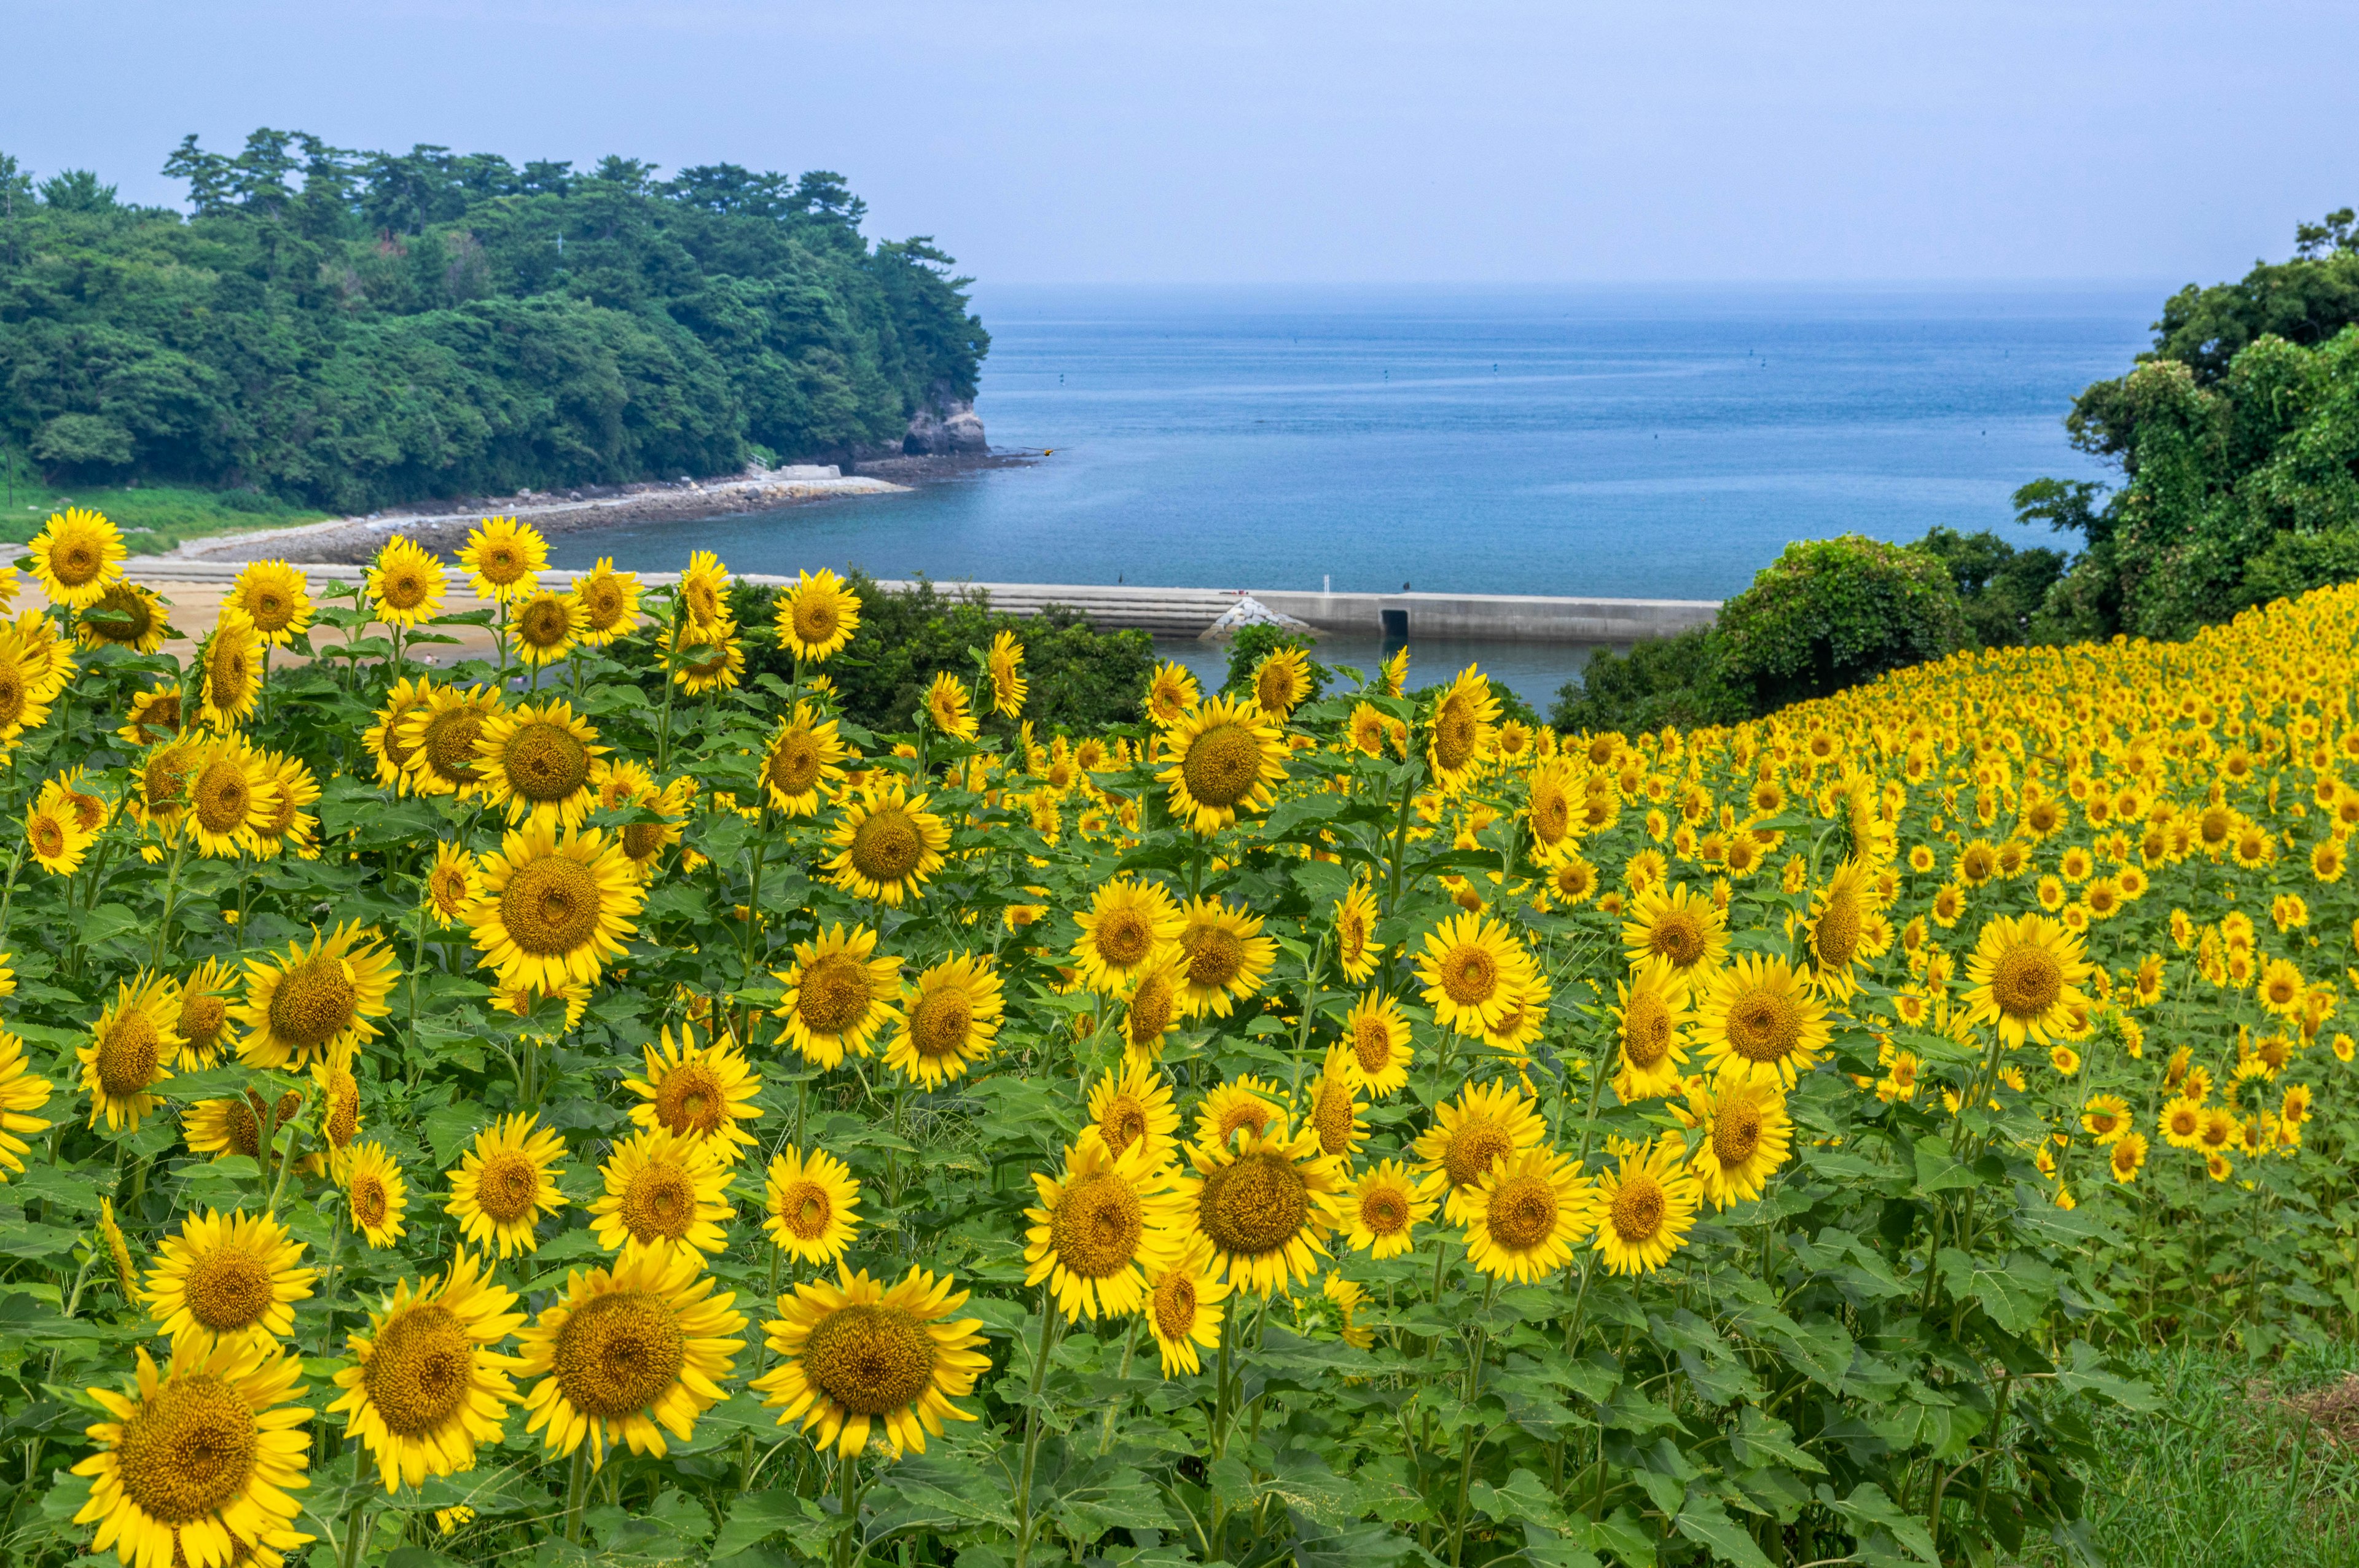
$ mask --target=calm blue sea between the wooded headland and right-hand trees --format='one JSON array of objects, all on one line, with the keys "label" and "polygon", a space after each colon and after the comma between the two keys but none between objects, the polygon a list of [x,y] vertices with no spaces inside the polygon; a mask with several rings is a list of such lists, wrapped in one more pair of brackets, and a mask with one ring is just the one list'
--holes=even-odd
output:
[{"label": "calm blue sea between the wooded headland and right-hand trees", "polygon": [[[561,535],[559,566],[1722,599],[1788,540],[2052,542],[2008,495],[2149,344],[2076,288],[986,288],[977,413],[1045,453],[906,495]],[[1210,651],[1177,648],[1210,665]],[[1373,658],[1373,648],[1333,648]],[[1484,655],[1526,696],[1573,648]]]}]

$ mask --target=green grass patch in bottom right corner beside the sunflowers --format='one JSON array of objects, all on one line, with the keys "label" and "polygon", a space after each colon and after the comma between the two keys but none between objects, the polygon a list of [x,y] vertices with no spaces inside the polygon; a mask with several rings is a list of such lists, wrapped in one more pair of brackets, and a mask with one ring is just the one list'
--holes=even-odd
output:
[{"label": "green grass patch in bottom right corner beside the sunflowers", "polygon": [[2163,1412],[2102,1422],[2088,1476],[2111,1568],[2359,1563],[2359,1346],[2291,1349],[2269,1368],[2151,1351],[2140,1370]]}]

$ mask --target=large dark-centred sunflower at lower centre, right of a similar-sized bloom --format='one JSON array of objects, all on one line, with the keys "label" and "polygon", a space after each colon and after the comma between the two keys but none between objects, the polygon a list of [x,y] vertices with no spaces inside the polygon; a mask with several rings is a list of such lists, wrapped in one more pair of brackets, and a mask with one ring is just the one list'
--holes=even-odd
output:
[{"label": "large dark-centred sunflower at lower centre, right of a similar-sized bloom", "polygon": [[1194,1144],[1196,1231],[1213,1243],[1210,1269],[1255,1294],[1288,1290],[1319,1271],[1326,1238],[1342,1224],[1342,1155],[1319,1153],[1309,1127]]}]

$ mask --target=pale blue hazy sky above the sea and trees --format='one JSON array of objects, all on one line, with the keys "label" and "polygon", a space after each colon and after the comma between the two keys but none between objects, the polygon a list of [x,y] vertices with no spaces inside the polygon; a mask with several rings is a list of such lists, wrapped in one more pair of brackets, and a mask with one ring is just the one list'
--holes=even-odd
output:
[{"label": "pale blue hazy sky above the sea and trees", "polygon": [[2359,200],[2350,0],[9,0],[0,35],[0,151],[125,198],[255,125],[833,167],[988,283],[2175,283]]}]

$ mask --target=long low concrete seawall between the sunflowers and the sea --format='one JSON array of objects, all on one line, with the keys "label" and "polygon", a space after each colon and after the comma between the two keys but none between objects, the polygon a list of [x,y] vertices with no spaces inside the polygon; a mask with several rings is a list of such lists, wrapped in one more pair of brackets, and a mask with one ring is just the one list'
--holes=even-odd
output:
[{"label": "long low concrete seawall between the sunflowers and the sea", "polygon": [[[241,564],[191,561],[184,556],[132,556],[125,571],[142,582],[231,582]],[[304,566],[316,582],[356,582],[361,566]],[[566,587],[578,573],[545,571],[540,580]],[[781,585],[790,578],[741,573],[745,582]],[[639,573],[639,582],[658,587],[677,582],[679,573]],[[467,575],[453,568],[453,587],[465,589]],[[880,580],[878,587],[908,587]],[[1290,589],[1217,589],[1217,587],[1099,587],[1083,582],[937,582],[944,594],[981,592],[991,608],[1010,615],[1038,615],[1050,604],[1080,611],[1102,630],[1144,630],[1158,637],[1196,637],[1241,597],[1253,594],[1267,608],[1293,615],[1319,632],[1387,639],[1481,639],[1531,644],[1632,644],[1675,637],[1710,625],[1720,613],[1713,599],[1550,599],[1540,594],[1297,594]]]}]

